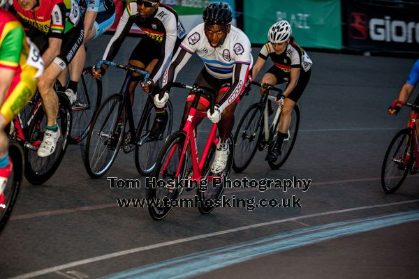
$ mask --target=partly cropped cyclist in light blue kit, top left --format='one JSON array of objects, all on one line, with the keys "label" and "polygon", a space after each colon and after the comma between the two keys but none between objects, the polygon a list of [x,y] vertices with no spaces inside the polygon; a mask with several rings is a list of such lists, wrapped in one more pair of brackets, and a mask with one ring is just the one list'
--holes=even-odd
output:
[{"label": "partly cropped cyclist in light blue kit, top left", "polygon": [[[78,0],[80,13],[84,19],[84,45],[108,31],[115,21],[115,3],[113,0]],[[80,47],[70,63],[70,79],[66,85],[66,96],[73,104],[77,100],[77,85],[82,75],[86,49]],[[65,77],[60,78],[61,84]]]}]

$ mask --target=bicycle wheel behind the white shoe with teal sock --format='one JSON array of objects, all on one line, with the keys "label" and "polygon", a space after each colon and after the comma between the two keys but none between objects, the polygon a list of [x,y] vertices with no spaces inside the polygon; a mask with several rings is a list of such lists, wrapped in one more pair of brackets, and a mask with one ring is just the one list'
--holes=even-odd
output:
[{"label": "bicycle wheel behind the white shoe with teal sock", "polygon": [[[57,171],[64,155],[67,151],[68,142],[71,133],[71,105],[68,101],[67,96],[64,93],[57,93],[59,101],[59,112],[57,116],[57,124],[61,129],[61,136],[57,141],[57,146],[50,156],[41,158],[36,154],[36,150],[25,149],[25,177],[29,183],[39,185],[45,183],[48,179],[54,175]],[[47,117],[43,110],[43,107],[39,107],[36,112],[34,119],[29,125],[29,143],[33,146],[39,146],[42,142],[43,135],[45,132],[45,126],[47,123]]]}]

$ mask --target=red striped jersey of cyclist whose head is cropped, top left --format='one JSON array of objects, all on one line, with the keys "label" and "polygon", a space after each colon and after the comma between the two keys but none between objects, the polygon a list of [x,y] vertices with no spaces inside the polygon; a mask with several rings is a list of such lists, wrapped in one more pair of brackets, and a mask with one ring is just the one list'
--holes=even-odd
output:
[{"label": "red striped jersey of cyclist whose head is cropped, top left", "polygon": [[35,11],[23,10],[17,0],[13,7],[24,24],[52,38],[63,38],[80,22],[80,10],[75,0],[41,0]]}]

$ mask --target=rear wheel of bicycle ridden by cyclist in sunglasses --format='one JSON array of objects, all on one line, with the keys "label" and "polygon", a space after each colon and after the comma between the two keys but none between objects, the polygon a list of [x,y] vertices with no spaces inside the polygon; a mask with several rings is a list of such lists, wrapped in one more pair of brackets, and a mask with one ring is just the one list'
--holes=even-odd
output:
[{"label": "rear wheel of bicycle ridden by cyclist in sunglasses", "polygon": [[149,140],[149,133],[152,130],[154,119],[156,118],[156,110],[150,98],[147,98],[145,114],[142,114],[140,123],[137,128],[137,145],[135,146],[135,167],[141,175],[149,175],[156,166],[157,156],[163,144],[165,144],[170,133],[172,133],[173,108],[172,103],[168,100],[166,104],[166,112],[168,112],[168,123],[166,130],[158,140]]}]

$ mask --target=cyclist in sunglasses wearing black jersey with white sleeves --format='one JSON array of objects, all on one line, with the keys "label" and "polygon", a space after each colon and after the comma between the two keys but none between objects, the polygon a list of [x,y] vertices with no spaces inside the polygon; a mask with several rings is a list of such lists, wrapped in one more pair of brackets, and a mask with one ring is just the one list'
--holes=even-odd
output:
[{"label": "cyclist in sunglasses wearing black jersey with white sleeves", "polygon": [[[176,11],[163,5],[159,0],[133,1],[126,6],[124,14],[119,20],[117,31],[106,47],[103,59],[112,60],[115,58],[133,24],[137,25],[145,33],[145,36],[131,53],[129,63],[151,73],[149,81],[146,84],[141,83],[142,89],[149,92],[156,88],[154,85],[166,70],[172,54],[176,52],[185,36],[185,31]],[[94,77],[103,75],[107,67],[103,65],[101,69],[94,70]],[[135,86],[140,78],[138,74],[133,75],[128,88],[131,93],[131,103],[133,103]],[[149,134],[151,139],[160,137],[168,121],[168,114],[164,107],[155,107],[155,109],[156,119]]]}]

